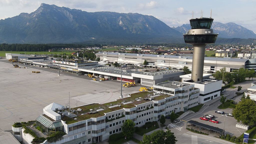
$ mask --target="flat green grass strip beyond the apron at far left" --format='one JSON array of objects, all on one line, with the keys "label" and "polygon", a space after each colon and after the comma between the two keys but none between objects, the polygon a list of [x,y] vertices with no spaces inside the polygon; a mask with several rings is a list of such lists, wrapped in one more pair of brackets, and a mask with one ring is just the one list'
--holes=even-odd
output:
[{"label": "flat green grass strip beyond the apron at far left", "polygon": [[5,53],[13,53],[13,54],[71,54],[74,51],[59,51],[59,52],[17,52],[17,51],[0,51],[0,56],[5,57]]}]

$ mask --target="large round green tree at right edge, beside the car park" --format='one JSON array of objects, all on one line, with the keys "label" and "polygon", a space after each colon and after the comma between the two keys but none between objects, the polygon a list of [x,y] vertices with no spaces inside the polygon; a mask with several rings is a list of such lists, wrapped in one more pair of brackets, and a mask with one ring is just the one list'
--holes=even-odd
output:
[{"label": "large round green tree at right edge, beside the car park", "polygon": [[254,125],[256,123],[256,104],[254,100],[244,99],[240,101],[233,109],[233,116],[239,122],[245,125]]}]

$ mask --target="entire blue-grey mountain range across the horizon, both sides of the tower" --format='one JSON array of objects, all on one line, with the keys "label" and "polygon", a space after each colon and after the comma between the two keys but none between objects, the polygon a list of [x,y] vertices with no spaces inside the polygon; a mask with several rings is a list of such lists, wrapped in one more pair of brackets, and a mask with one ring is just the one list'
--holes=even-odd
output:
[{"label": "entire blue-grey mountain range across the horizon, both sides of the tower", "polygon": [[[223,38],[256,38],[234,23],[214,22],[212,28]],[[189,24],[171,28],[138,13],[91,13],[42,3],[30,14],[1,19],[0,43],[184,43],[182,34],[188,29]]]}]

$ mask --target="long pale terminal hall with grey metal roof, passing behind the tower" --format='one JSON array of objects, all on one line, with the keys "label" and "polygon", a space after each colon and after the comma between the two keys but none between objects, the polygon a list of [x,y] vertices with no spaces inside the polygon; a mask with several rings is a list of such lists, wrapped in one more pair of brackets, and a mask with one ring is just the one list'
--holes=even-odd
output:
[{"label": "long pale terminal hall with grey metal roof, passing behind the tower", "polygon": [[[118,62],[126,64],[141,65],[146,60],[149,66],[172,67],[182,69],[184,66],[192,69],[192,56],[173,56],[173,55],[151,55],[151,54],[132,54],[132,53],[109,53],[99,52],[96,56],[103,61]],[[219,58],[205,57],[204,72],[210,73],[226,67],[227,71],[239,68],[255,69],[256,59],[240,58]]]}]

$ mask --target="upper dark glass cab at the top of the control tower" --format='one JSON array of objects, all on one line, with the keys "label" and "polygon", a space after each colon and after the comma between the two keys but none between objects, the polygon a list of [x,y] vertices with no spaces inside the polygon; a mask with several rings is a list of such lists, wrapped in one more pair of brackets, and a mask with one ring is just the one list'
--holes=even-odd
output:
[{"label": "upper dark glass cab at the top of the control tower", "polygon": [[196,18],[196,19],[190,19],[189,21],[190,21],[191,29],[200,29],[200,28],[210,29],[213,19],[212,18]]}]

